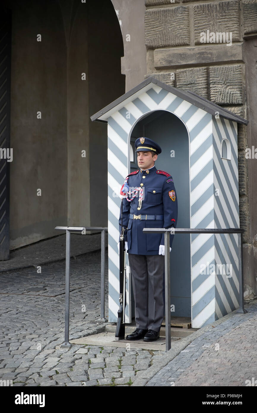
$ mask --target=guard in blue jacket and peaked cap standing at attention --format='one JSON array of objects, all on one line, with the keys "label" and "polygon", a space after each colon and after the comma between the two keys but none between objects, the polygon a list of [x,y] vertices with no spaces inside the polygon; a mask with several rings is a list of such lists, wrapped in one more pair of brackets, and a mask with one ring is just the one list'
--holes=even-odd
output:
[{"label": "guard in blue jacket and peaked cap standing at attention", "polygon": [[[149,138],[135,142],[139,169],[125,178],[121,188],[125,249],[132,274],[136,330],[128,340],[159,338],[163,321],[164,234],[146,234],[144,228],[176,228],[177,194],[172,176],[154,163],[160,146]],[[121,209],[120,209],[121,230]],[[172,247],[174,235],[170,235]],[[119,245],[119,244],[118,244]],[[171,248],[170,248],[171,250]]]}]

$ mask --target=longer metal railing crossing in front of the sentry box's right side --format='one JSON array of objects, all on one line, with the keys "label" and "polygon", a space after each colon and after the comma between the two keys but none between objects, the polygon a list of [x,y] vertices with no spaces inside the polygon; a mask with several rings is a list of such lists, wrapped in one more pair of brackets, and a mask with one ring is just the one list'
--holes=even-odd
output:
[{"label": "longer metal railing crossing in front of the sentry box's right side", "polygon": [[238,267],[239,267],[239,309],[237,313],[247,313],[244,309],[243,299],[243,240],[242,234],[244,230],[240,228],[144,228],[143,233],[164,233],[165,242],[165,336],[166,336],[166,351],[171,348],[171,331],[170,331],[170,236],[178,234],[238,234]]}]

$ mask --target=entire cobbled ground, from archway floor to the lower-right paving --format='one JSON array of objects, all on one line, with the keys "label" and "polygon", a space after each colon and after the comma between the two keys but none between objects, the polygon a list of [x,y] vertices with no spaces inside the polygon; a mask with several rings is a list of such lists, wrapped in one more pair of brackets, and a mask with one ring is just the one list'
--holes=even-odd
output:
[{"label": "entire cobbled ground, from archway floor to the lower-right paving", "polygon": [[[73,234],[72,234],[73,235]],[[98,238],[97,238],[98,237]],[[58,239],[59,249],[54,250]],[[73,238],[78,243],[78,238]],[[87,238],[98,249],[100,236]],[[60,244],[61,243],[61,244]],[[64,237],[20,249],[0,267],[0,380],[14,386],[246,386],[257,383],[257,300],[174,342],[169,352],[99,347],[64,341]],[[22,254],[21,254],[22,252]],[[74,252],[77,254],[76,250]],[[24,261],[21,261],[24,255]],[[33,259],[33,257],[35,259]],[[107,259],[107,254],[106,254]],[[20,263],[20,264],[19,264]],[[17,265],[28,268],[11,270]],[[100,316],[100,252],[71,259],[70,339],[105,330]],[[8,271],[9,270],[9,271]],[[8,271],[5,273],[3,271]],[[41,271],[38,273],[38,271]],[[108,281],[106,266],[106,316]],[[3,338],[2,338],[3,337]],[[164,366],[164,367],[163,367]],[[249,380],[249,382],[247,382]],[[249,384],[250,383],[250,384]]]}]

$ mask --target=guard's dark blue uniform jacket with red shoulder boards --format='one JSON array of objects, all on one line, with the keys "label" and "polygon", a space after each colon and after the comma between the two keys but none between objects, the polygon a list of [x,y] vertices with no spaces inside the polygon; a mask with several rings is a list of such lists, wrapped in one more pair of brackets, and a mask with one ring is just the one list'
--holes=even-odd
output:
[{"label": "guard's dark blue uniform jacket with red shoulder boards", "polygon": [[[167,172],[157,170],[155,166],[149,169],[149,173],[138,171],[129,175],[127,184],[130,190],[140,187],[143,183],[144,196],[139,207],[139,192],[137,196],[128,202],[123,198],[123,227],[125,240],[128,243],[128,253],[140,255],[159,254],[159,245],[164,245],[164,234],[145,234],[143,228],[176,228],[177,226],[177,193],[175,191],[172,176]],[[128,196],[129,198],[132,195]],[[174,199],[174,200],[172,200]],[[163,220],[129,219],[129,214],[134,215],[163,215]],[[120,232],[121,232],[121,207],[120,207]],[[172,247],[174,234],[170,235],[170,247]]]}]

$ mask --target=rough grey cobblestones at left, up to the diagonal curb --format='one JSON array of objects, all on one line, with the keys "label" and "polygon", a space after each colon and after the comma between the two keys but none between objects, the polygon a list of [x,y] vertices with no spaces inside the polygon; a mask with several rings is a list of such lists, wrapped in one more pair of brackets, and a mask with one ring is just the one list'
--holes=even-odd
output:
[{"label": "rough grey cobblestones at left, up to the diagonal curb", "polygon": [[[106,256],[107,258],[107,256]],[[71,260],[70,339],[103,331],[100,253]],[[107,275],[107,269],[106,269]],[[130,386],[163,351],[64,341],[65,262],[1,274],[0,380],[13,386]],[[107,299],[106,277],[106,299]],[[108,305],[106,301],[106,309]],[[106,311],[106,313],[107,313]]]}]

